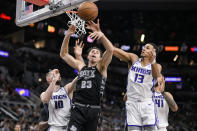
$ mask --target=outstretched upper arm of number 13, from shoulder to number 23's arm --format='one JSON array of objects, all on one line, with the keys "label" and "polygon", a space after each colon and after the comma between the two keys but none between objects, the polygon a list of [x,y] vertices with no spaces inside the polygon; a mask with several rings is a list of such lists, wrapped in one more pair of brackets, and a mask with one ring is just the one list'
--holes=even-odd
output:
[{"label": "outstretched upper arm of number 13, from shoulder to number 23's arm", "polygon": [[134,53],[128,53],[122,49],[114,47],[114,56],[120,59],[120,61],[127,62],[129,65],[132,65],[137,59],[138,56]]}]

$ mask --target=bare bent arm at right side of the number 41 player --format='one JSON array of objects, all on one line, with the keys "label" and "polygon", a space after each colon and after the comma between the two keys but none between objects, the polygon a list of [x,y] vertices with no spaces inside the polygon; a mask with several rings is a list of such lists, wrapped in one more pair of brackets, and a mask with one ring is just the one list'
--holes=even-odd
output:
[{"label": "bare bent arm at right side of the number 41 player", "polygon": [[174,101],[173,96],[169,92],[164,92],[164,93],[162,93],[162,95],[165,98],[166,102],[168,103],[170,109],[173,112],[177,112],[178,111],[178,105]]}]

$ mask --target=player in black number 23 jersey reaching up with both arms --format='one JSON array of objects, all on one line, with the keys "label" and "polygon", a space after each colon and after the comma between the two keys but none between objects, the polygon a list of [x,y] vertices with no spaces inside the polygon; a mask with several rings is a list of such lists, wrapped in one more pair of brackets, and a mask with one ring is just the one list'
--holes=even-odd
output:
[{"label": "player in black number 23 jersey reaching up with both arms", "polygon": [[89,22],[88,28],[93,31],[90,37],[99,39],[106,51],[102,55],[100,49],[93,47],[88,53],[88,65],[74,59],[69,54],[69,39],[75,33],[75,26],[71,25],[62,43],[60,56],[67,64],[79,71],[76,91],[73,94],[73,107],[68,131],[96,131],[100,113],[100,99],[105,87],[107,68],[113,55],[113,45],[101,32],[99,21],[97,24]]}]

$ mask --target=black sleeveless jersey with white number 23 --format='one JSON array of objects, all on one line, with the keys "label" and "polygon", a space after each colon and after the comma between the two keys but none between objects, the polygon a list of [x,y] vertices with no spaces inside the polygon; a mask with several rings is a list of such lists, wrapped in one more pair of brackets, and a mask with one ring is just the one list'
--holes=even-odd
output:
[{"label": "black sleeveless jersey with white number 23", "polygon": [[106,78],[101,75],[96,66],[84,66],[78,75],[73,103],[100,105],[105,82]]}]

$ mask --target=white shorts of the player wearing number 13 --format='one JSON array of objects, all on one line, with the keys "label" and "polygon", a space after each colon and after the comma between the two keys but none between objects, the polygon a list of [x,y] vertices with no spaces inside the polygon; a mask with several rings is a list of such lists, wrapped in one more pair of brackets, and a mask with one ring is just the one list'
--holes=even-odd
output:
[{"label": "white shorts of the player wearing number 13", "polygon": [[156,126],[156,110],[152,99],[126,102],[127,126]]}]

